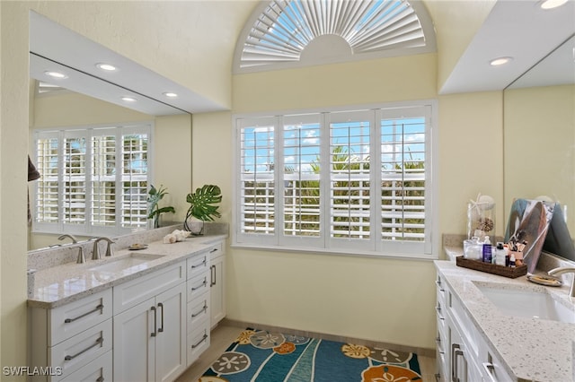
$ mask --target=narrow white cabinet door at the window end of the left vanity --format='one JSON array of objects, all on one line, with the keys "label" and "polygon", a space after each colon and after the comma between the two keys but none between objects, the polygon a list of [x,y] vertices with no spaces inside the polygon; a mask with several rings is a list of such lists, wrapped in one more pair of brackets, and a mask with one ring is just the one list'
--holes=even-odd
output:
[{"label": "narrow white cabinet door at the window end of the left vanity", "polygon": [[210,326],[213,329],[217,324],[226,317],[226,252],[224,242],[218,242],[209,250],[210,262],[210,283],[209,283],[209,300],[210,307]]}]

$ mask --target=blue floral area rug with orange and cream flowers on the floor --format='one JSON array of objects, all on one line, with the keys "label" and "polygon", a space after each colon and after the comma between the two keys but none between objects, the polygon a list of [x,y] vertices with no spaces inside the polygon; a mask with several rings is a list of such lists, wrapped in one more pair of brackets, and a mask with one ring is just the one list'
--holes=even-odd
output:
[{"label": "blue floral area rug with orange and cream flowers on the floor", "polygon": [[417,354],[247,329],[199,382],[421,381]]}]

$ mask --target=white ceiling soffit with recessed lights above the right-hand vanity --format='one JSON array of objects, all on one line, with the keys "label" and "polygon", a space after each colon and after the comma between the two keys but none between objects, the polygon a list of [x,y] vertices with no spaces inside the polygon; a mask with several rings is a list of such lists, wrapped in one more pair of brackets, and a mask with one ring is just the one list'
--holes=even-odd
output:
[{"label": "white ceiling soffit with recessed lights above the right-hand vanity", "polygon": [[[539,4],[539,0],[498,1],[440,93],[503,90],[575,33],[575,0],[552,10],[543,10]],[[560,74],[563,81],[573,83],[573,51],[565,52],[558,60],[563,65],[555,63],[553,70],[532,75],[533,82],[523,86],[551,83],[552,78],[546,76],[557,81]],[[507,65],[489,65],[491,59],[501,56],[513,60]]]}]

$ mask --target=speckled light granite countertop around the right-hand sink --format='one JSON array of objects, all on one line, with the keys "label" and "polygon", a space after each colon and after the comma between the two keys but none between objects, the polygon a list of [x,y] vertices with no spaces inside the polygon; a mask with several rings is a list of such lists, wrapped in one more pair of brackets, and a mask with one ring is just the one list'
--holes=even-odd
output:
[{"label": "speckled light granite countertop around the right-hand sink", "polygon": [[[461,255],[461,248],[453,248]],[[506,363],[509,375],[522,381],[572,381],[575,376],[575,324],[537,318],[505,316],[488,300],[477,283],[497,283],[498,288],[546,291],[573,310],[569,287],[545,287],[526,276],[510,279],[436,260],[435,265],[460,300],[483,339]]]}]

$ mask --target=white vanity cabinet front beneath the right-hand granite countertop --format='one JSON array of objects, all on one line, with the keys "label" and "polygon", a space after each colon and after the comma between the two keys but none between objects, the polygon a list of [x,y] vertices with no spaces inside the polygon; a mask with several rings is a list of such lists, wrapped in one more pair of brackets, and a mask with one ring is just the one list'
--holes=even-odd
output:
[{"label": "white vanity cabinet front beneath the right-hand granite countertop", "polygon": [[444,276],[437,276],[437,326],[435,377],[442,382],[511,382],[503,364],[482,338]]}]

